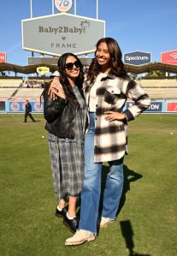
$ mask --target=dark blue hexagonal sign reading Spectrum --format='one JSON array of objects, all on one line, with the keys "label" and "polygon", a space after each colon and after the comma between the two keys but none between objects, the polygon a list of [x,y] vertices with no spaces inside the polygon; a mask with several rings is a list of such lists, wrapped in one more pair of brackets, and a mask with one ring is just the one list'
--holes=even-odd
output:
[{"label": "dark blue hexagonal sign reading Spectrum", "polygon": [[144,65],[151,62],[151,57],[149,52],[144,51],[133,51],[124,54],[124,63],[130,65]]}]

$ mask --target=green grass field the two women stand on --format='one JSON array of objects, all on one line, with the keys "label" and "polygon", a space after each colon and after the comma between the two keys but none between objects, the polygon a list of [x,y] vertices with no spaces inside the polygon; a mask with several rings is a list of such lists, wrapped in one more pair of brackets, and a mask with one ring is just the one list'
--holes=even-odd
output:
[{"label": "green grass field the two women stand on", "polygon": [[36,119],[0,115],[0,255],[177,255],[177,115],[129,122],[120,213],[78,247],[64,246],[72,234],[55,217],[47,132],[43,116]]}]

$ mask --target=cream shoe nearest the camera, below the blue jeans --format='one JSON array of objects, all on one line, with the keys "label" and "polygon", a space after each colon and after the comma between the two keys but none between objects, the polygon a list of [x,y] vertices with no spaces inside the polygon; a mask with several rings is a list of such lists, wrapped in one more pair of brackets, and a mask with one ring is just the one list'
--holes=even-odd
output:
[{"label": "cream shoe nearest the camera, below the blue jeans", "polygon": [[84,230],[84,229],[80,229],[77,230],[76,233],[74,234],[74,236],[68,238],[65,241],[65,245],[66,246],[76,246],[76,245],[80,245],[82,243],[84,243],[85,241],[93,241],[95,240],[96,235]]}]

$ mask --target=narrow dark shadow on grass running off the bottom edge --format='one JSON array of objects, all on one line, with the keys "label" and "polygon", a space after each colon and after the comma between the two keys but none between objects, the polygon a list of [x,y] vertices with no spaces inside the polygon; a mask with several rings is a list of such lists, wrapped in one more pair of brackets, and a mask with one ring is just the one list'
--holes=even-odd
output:
[{"label": "narrow dark shadow on grass running off the bottom edge", "polygon": [[129,251],[128,256],[150,256],[150,254],[139,254],[133,252],[134,242],[133,242],[133,228],[129,220],[121,221],[121,234],[125,239],[126,247]]}]

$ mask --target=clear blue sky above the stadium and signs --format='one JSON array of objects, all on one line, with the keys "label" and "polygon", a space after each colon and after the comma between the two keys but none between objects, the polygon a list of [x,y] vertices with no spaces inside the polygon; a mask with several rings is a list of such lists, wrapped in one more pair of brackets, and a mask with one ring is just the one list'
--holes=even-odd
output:
[{"label": "clear blue sky above the stadium and signs", "polygon": [[[96,2],[77,0],[77,15],[96,19]],[[7,63],[25,66],[31,52],[22,49],[21,20],[30,18],[30,0],[0,0],[0,10],[0,51],[7,53]],[[32,0],[33,17],[51,14],[52,0]],[[98,0],[98,19],[106,22],[106,37],[116,39],[123,54],[150,52],[151,61],[160,62],[162,51],[177,50],[176,0]]]}]

